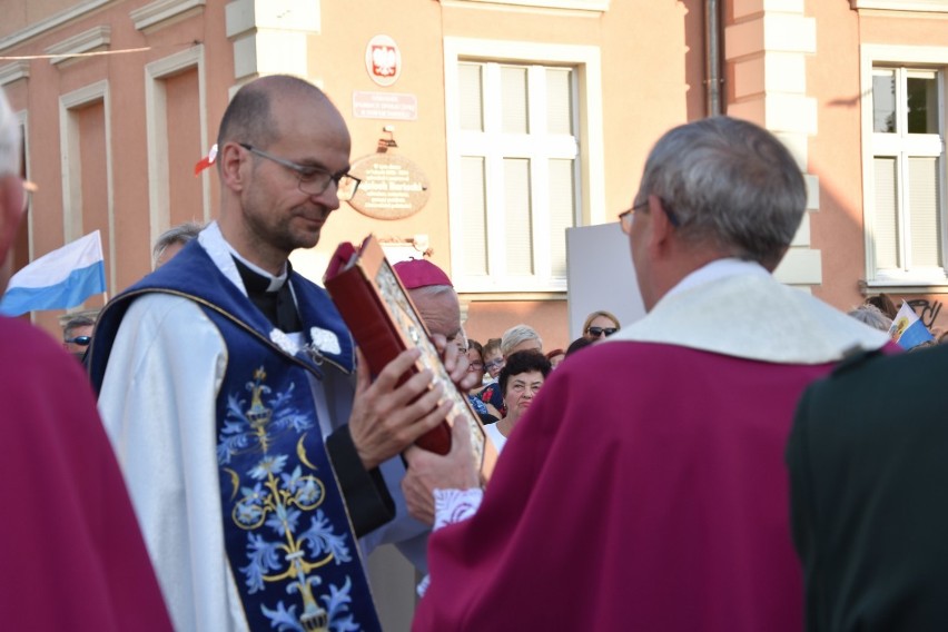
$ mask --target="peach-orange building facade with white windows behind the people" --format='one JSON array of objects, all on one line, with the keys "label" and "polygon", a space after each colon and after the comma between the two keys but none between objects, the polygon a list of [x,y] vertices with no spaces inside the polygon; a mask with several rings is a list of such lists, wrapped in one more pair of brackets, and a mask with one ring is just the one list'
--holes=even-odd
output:
[{"label": "peach-orange building facade with white windows behind the people", "polygon": [[[229,97],[293,73],[336,102],[367,185],[294,255],[316,280],[336,244],[374,233],[448,271],[471,337],[527,323],[565,347],[565,229],[614,221],[652,144],[723,112],[772,130],[807,175],[781,280],[841,309],[888,293],[948,326],[948,0],[0,6],[0,85],[39,186],[14,269],[99,229],[109,294],[135,283],[165,229],[216,216],[216,175],[194,167]],[[609,273],[590,283],[622,293]],[[32,318],[58,336],[63,316]],[[406,585],[376,594],[393,629]]]}]

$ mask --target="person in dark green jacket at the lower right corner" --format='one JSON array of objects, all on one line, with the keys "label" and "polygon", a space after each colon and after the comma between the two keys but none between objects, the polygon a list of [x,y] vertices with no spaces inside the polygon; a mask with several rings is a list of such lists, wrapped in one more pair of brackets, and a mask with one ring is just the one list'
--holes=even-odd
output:
[{"label": "person in dark green jacket at the lower right corner", "polygon": [[809,632],[948,630],[948,346],[840,366],[787,450]]}]

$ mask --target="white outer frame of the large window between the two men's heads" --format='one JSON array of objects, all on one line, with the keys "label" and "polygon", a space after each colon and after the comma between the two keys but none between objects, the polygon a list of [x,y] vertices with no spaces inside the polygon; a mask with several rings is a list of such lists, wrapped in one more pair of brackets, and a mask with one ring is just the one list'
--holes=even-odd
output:
[{"label": "white outer frame of the large window between the two men's heads", "polygon": [[[465,147],[465,132],[458,120],[458,62],[465,60],[486,62],[510,62],[516,65],[569,66],[574,70],[574,137],[579,139],[575,180],[574,226],[602,224],[605,219],[605,189],[603,177],[603,135],[602,135],[602,73],[600,51],[596,47],[553,46],[520,41],[498,41],[468,38],[445,38],[445,118],[447,129],[447,181],[452,249],[452,280],[461,293],[561,293],[566,290],[566,277],[554,278],[539,269],[534,276],[505,277],[500,274],[487,276],[467,275],[455,255],[462,251],[464,235],[460,228],[463,208],[462,148]],[[486,112],[485,112],[486,115]],[[470,134],[470,132],[467,132]],[[532,182],[540,190],[545,182]],[[488,191],[490,195],[490,191]],[[539,205],[537,205],[539,206]],[[488,205],[488,215],[491,207]],[[540,226],[543,226],[542,221]],[[495,230],[496,225],[488,226]],[[534,227],[537,238],[533,246],[535,260],[550,261],[549,239],[543,238],[542,228]],[[565,239],[565,236],[564,236]],[[488,241],[490,244],[490,241]],[[503,260],[505,255],[487,253],[488,260]],[[501,266],[502,267],[502,266]],[[547,266],[549,269],[549,266]]]}]

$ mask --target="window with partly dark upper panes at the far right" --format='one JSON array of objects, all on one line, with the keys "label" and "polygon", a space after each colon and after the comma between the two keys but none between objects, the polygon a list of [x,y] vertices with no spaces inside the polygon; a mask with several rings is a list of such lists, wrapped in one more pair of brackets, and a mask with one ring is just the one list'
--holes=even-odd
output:
[{"label": "window with partly dark upper panes at the far right", "polygon": [[944,284],[944,67],[875,61],[869,88],[871,116],[863,121],[871,151],[863,165],[869,282]]}]

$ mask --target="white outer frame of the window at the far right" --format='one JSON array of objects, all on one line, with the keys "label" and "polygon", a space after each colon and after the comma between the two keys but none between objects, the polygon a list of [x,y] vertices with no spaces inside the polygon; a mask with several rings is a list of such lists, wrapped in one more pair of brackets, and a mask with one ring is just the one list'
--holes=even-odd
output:
[{"label": "white outer frame of the window at the far right", "polygon": [[[944,286],[948,280],[948,273],[942,268],[922,268],[908,270],[879,270],[876,269],[876,245],[875,245],[875,211],[876,211],[876,182],[875,182],[875,158],[877,156],[893,155],[890,148],[886,151],[888,144],[885,136],[873,130],[872,112],[872,76],[873,69],[878,67],[909,67],[939,70],[939,130],[941,134],[941,164],[940,191],[941,201],[941,251],[942,265],[948,261],[948,154],[946,154],[946,85],[945,77],[948,73],[948,48],[944,47],[911,47],[911,46],[886,46],[863,45],[860,48],[860,75],[862,98],[862,213],[863,235],[866,239],[866,282],[869,287],[876,288],[930,288],[931,286]],[[900,121],[903,126],[905,121]],[[903,129],[900,127],[899,129]],[[930,149],[930,148],[929,148]],[[903,181],[905,174],[899,174],[899,181]],[[902,236],[905,239],[905,235]]]}]

